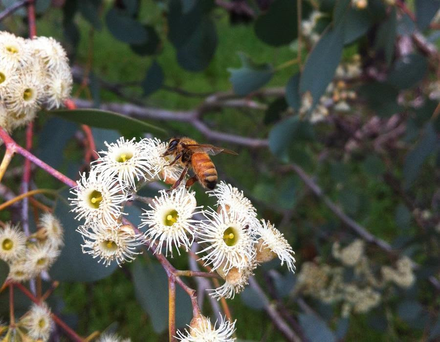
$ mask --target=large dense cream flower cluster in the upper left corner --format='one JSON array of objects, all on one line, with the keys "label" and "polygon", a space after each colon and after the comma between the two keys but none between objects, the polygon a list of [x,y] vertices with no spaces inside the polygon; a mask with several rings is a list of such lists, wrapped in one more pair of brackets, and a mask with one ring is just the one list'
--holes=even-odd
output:
[{"label": "large dense cream flower cluster in the upper left corner", "polygon": [[60,43],[0,32],[0,127],[10,131],[32,121],[41,108],[60,107],[71,88],[72,74]]}]

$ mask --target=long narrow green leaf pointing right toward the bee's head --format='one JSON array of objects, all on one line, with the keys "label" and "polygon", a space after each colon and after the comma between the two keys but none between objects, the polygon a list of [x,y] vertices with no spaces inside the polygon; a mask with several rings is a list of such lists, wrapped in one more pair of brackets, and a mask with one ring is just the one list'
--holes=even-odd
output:
[{"label": "long narrow green leaf pointing right toward the bee's head", "polygon": [[126,115],[101,109],[57,109],[50,114],[92,127],[108,129],[131,129],[139,132],[165,132],[164,129]]}]

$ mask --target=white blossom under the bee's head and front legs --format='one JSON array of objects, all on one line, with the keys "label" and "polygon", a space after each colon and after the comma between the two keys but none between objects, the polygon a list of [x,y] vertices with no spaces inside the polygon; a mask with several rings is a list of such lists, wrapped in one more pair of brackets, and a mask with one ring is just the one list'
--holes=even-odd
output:
[{"label": "white blossom under the bee's head and front legs", "polygon": [[162,154],[167,150],[167,143],[161,142],[159,139],[142,139],[140,143],[145,149],[145,153],[150,156],[151,170],[150,173],[154,177],[148,180],[154,180],[155,177],[164,180],[167,184],[173,184],[183,171],[183,167],[179,163],[169,165],[174,157],[168,155],[163,157]]}]

